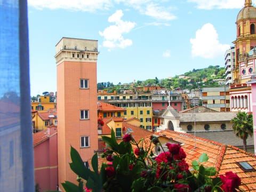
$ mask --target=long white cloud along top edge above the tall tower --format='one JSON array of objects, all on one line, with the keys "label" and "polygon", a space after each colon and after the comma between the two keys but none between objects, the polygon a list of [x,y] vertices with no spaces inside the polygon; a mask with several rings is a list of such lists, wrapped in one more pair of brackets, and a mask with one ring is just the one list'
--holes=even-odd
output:
[{"label": "long white cloud along top edge above the tall tower", "polygon": [[36,9],[66,9],[75,11],[93,12],[107,10],[113,6],[111,0],[28,0],[28,5]]}]

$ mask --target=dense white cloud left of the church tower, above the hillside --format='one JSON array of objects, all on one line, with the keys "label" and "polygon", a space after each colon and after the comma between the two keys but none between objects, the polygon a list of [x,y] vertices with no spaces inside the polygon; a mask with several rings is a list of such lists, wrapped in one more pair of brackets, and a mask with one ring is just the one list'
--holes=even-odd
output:
[{"label": "dense white cloud left of the church tower, above the hillside", "polygon": [[192,44],[192,57],[207,59],[223,57],[225,51],[230,48],[230,45],[219,42],[218,33],[211,23],[206,23],[198,29],[196,37],[191,38],[190,43]]}]

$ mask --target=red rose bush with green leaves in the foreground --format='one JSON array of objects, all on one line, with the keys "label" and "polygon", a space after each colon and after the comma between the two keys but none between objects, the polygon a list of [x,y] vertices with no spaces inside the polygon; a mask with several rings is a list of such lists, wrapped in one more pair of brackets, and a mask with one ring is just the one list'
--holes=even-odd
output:
[{"label": "red rose bush with green leaves in the foreground", "polygon": [[[150,142],[143,139],[136,142],[131,134],[125,134],[123,141],[117,143],[111,130],[111,138],[102,137],[102,140],[110,148],[102,154],[107,163],[102,163],[100,171],[97,153],[92,157],[91,171],[71,147],[70,168],[78,175],[78,186],[66,181],[62,183],[66,191],[234,191],[241,184],[234,173],[216,177],[214,167],[204,167],[202,163],[208,160],[206,154],[193,161],[194,170],[190,172],[181,146],[166,143],[169,150],[164,151],[154,136],[151,136]],[[163,152],[155,156],[155,147]]]}]

